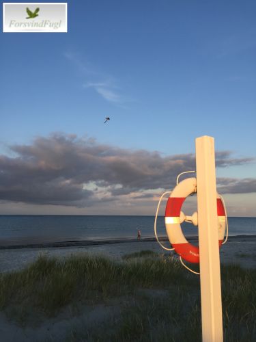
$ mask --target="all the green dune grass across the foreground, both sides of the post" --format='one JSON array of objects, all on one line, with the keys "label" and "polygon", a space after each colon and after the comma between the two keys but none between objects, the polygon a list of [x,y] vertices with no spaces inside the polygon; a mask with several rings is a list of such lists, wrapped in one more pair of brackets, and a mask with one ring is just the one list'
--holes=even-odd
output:
[{"label": "all the green dune grass across the foreground, both sides of the post", "polygon": [[[256,341],[256,270],[226,265],[221,276],[225,341]],[[199,277],[165,254],[145,250],[122,261],[42,255],[23,270],[0,275],[1,311],[22,326],[58,317],[70,306],[80,315],[97,305],[113,315],[72,327],[67,341],[201,339]]]}]

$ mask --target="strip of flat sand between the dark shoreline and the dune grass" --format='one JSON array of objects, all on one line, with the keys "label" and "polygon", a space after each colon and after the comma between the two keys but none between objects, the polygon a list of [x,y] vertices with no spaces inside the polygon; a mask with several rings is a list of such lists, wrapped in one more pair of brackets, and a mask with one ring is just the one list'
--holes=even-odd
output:
[{"label": "strip of flat sand between the dark shoreline and the dune grass", "polygon": [[[193,243],[193,241],[191,241]],[[166,246],[169,246],[165,242]],[[141,239],[113,239],[98,241],[66,241],[55,244],[42,244],[40,246],[15,246],[0,249],[0,272],[10,272],[21,269],[35,261],[40,254],[49,257],[68,257],[71,254],[89,253],[104,254],[107,257],[121,259],[124,254],[153,250],[159,253],[171,253],[163,250],[153,238]],[[222,246],[221,263],[238,263],[242,267],[256,267],[256,235],[240,235],[229,237]]]}]

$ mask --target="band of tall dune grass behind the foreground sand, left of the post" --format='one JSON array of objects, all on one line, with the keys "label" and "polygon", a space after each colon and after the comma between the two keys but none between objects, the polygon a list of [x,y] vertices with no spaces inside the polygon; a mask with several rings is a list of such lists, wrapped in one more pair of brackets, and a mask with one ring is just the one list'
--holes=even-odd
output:
[{"label": "band of tall dune grass behind the foreground sand, left of the post", "polygon": [[0,308],[33,302],[55,315],[74,300],[96,303],[132,293],[135,287],[163,287],[186,281],[180,263],[158,257],[118,263],[104,257],[73,256],[63,261],[41,256],[19,272],[1,274]]}]

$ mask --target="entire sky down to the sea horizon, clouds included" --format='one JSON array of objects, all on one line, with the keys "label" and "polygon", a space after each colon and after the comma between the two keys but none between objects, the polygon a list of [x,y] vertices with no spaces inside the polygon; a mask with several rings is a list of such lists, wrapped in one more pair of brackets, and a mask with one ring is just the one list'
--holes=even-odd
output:
[{"label": "entire sky down to the sea horizon, clouds included", "polygon": [[72,0],[66,34],[1,31],[0,214],[154,215],[210,135],[228,215],[255,217],[255,14]]}]

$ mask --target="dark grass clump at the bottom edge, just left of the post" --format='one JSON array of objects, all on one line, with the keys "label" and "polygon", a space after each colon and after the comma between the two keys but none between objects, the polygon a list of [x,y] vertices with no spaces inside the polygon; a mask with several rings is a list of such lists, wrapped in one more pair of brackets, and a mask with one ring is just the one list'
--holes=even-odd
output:
[{"label": "dark grass clump at the bottom edge, just left of the post", "polygon": [[200,341],[198,306],[188,307],[186,300],[170,294],[158,299],[137,298],[100,329],[72,330],[68,341]]}]

